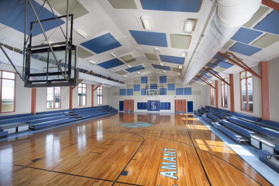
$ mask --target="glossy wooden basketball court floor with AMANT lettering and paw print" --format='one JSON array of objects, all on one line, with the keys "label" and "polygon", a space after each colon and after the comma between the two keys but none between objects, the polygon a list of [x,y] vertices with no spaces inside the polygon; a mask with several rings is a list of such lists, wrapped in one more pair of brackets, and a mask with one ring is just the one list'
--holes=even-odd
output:
[{"label": "glossy wooden basketball court floor with AMANT lettering and paw print", "polygon": [[0,142],[0,185],[270,183],[192,114],[116,113]]}]

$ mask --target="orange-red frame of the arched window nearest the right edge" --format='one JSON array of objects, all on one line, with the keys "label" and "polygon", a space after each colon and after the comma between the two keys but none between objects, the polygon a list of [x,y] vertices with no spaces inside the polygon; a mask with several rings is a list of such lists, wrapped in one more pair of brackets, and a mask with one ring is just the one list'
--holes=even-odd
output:
[{"label": "orange-red frame of the arched window nearest the right edge", "polygon": [[[241,78],[241,73],[245,72],[245,78]],[[250,73],[250,72],[249,72]],[[250,73],[251,74],[251,73]],[[249,92],[248,92],[248,78],[252,78],[252,90],[253,90],[253,111],[249,111]],[[241,85],[241,80],[245,79],[245,89],[246,89],[246,110],[243,109],[242,106],[242,85]],[[254,113],[254,89],[253,89],[253,74],[248,76],[248,71],[243,70],[239,73],[239,82],[240,82],[240,110],[244,112],[249,112],[249,113]],[[248,103],[248,104],[247,104]]]}]

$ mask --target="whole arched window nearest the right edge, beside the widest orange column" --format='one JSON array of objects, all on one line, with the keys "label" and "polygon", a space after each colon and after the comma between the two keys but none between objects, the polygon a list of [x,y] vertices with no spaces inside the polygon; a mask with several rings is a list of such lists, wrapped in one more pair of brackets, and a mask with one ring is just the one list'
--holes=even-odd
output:
[{"label": "whole arched window nearest the right edge, beside the widest orange column", "polygon": [[252,74],[248,71],[240,72],[240,90],[241,110],[253,112],[253,79]]}]

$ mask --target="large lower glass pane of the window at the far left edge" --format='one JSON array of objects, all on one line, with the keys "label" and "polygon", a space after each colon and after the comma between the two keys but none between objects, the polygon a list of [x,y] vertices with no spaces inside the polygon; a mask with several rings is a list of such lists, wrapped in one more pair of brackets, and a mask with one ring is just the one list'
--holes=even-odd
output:
[{"label": "large lower glass pane of the window at the far left edge", "polygon": [[[4,72],[3,72],[4,76]],[[15,81],[14,80],[2,80],[2,112],[12,112],[14,111],[14,89]]]}]

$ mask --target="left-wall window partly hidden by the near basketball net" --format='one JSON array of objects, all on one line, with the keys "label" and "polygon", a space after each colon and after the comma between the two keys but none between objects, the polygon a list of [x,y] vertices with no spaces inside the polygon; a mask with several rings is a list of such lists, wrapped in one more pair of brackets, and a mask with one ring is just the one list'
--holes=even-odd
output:
[{"label": "left-wall window partly hidden by the near basketball net", "polygon": [[61,108],[61,100],[59,99],[60,89],[56,90],[54,87],[47,87],[47,109]]}]

